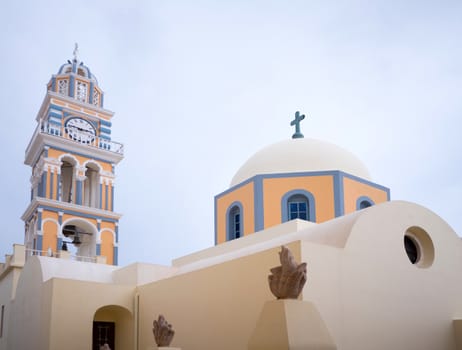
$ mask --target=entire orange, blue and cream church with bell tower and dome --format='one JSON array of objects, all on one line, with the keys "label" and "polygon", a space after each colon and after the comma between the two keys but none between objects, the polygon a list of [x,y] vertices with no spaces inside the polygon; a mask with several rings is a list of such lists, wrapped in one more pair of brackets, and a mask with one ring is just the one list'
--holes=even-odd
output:
[{"label": "entire orange, blue and cream church with bell tower and dome", "polygon": [[[459,236],[391,201],[355,155],[305,138],[299,112],[292,137],[243,160],[215,196],[215,246],[118,266],[113,115],[75,51],[26,148],[31,197],[24,242],[0,266],[0,350],[157,349],[159,315],[170,349],[462,350]],[[298,299],[268,285],[281,246],[307,263]]]}]

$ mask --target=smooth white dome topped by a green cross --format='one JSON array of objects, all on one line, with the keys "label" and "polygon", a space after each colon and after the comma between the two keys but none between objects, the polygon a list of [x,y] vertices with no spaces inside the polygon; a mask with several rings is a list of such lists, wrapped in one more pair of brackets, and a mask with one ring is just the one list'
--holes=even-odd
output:
[{"label": "smooth white dome topped by a green cross", "polygon": [[260,174],[340,170],[370,180],[369,171],[352,153],[332,143],[289,139],[263,148],[244,163],[231,187]]}]

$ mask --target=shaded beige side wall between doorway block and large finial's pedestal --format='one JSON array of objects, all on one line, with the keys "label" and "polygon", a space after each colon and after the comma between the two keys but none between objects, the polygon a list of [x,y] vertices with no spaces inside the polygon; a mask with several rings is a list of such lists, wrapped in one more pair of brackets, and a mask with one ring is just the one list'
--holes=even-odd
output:
[{"label": "shaded beige side wall between doorway block and large finial's pedestal", "polygon": [[[300,243],[289,247],[299,259]],[[139,349],[154,345],[152,322],[159,314],[175,329],[174,347],[245,349],[264,302],[275,299],[267,276],[279,265],[279,250],[278,245],[139,287]]]}]

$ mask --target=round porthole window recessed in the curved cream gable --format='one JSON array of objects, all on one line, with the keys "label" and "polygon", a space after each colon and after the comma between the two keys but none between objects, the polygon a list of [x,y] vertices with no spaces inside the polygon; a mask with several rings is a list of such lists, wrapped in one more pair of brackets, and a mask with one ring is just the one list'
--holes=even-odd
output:
[{"label": "round porthole window recessed in the curved cream gable", "polygon": [[406,230],[404,250],[411,264],[417,267],[429,267],[435,258],[435,248],[429,234],[418,226]]}]

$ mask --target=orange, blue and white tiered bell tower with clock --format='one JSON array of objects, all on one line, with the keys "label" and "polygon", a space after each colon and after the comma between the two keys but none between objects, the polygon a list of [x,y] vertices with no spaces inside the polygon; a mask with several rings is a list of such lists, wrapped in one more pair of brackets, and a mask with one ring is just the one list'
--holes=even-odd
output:
[{"label": "orange, blue and white tiered bell tower with clock", "polygon": [[123,145],[111,139],[114,113],[104,108],[96,77],[77,56],[76,45],[72,61],[47,84],[26,149],[32,176],[24,244],[29,254],[72,249],[77,260],[104,256],[117,265],[121,215],[114,212],[114,170]]}]

